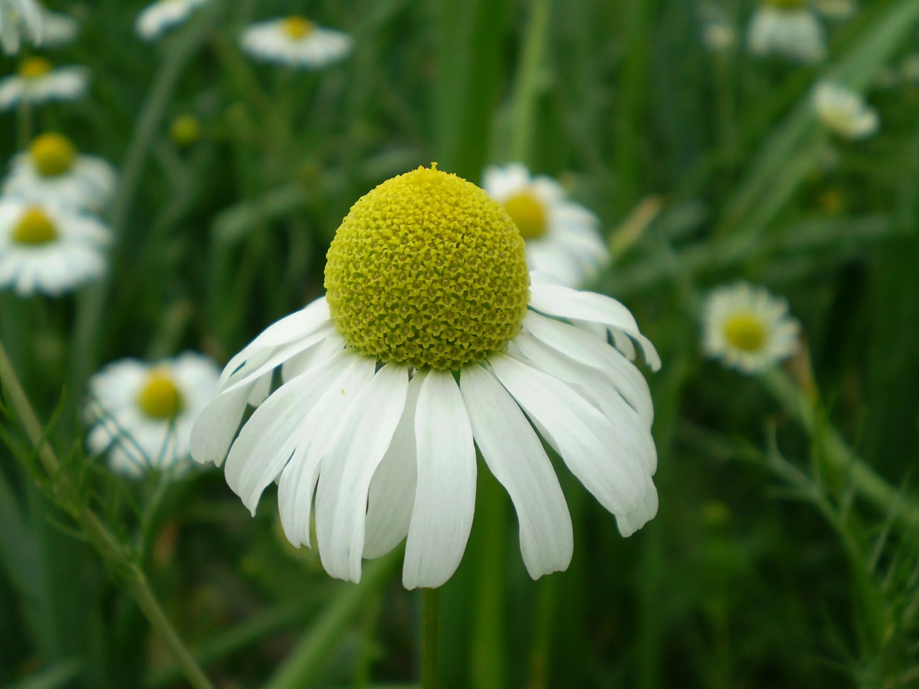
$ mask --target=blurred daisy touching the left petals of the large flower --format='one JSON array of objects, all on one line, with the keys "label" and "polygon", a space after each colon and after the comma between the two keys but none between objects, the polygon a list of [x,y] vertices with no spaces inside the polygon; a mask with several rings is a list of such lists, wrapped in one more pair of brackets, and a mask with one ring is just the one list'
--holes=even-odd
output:
[{"label": "blurred daisy touching the left petals of the large flower", "polygon": [[86,445],[96,454],[108,452],[111,469],[131,477],[187,469],[191,427],[219,378],[213,360],[194,352],[155,364],[109,364],[89,381],[86,412],[93,426]]}]

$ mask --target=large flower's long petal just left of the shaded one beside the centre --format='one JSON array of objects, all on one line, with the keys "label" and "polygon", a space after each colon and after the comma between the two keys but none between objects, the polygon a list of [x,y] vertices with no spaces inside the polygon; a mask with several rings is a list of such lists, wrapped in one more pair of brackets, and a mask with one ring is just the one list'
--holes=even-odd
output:
[{"label": "large flower's long petal just left of the shaded one beside the centre", "polygon": [[323,567],[360,581],[370,480],[390,446],[408,395],[408,368],[386,364],[359,393],[348,414],[351,432],[323,459],[316,492],[316,536]]}]

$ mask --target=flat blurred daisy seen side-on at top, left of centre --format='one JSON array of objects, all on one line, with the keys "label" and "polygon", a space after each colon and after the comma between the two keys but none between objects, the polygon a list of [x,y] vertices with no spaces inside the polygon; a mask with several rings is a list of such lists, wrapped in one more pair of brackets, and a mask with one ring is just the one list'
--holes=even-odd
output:
[{"label": "flat blurred daisy seen side-on at top, left of centre", "polygon": [[344,60],[351,52],[351,37],[320,27],[303,17],[257,22],[246,28],[244,51],[265,62],[318,69]]}]

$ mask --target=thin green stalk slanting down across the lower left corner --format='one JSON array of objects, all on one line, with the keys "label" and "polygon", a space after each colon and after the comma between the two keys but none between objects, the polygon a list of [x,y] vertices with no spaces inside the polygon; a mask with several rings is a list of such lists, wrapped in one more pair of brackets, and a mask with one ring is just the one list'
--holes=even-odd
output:
[{"label": "thin green stalk slanting down across the lower left corner", "polygon": [[[2,342],[0,342],[0,381],[6,387],[9,400],[25,427],[29,440],[35,446],[39,460],[51,478],[55,491],[64,495],[71,492],[73,490],[71,481],[62,475],[61,462],[45,438],[38,414],[28,401],[28,395],[23,390],[9,357],[6,356],[6,348]],[[210,681],[204,672],[201,672],[182,639],[179,638],[176,628],[166,617],[143,571],[131,559],[130,552],[108,531],[106,525],[88,505],[80,504],[74,507],[71,513],[85,536],[96,546],[102,556],[118,565],[112,570],[128,572],[124,578],[130,593],[134,596],[147,621],[150,622],[153,631],[172,653],[176,665],[185,674],[188,682],[195,689],[213,689]]]}]

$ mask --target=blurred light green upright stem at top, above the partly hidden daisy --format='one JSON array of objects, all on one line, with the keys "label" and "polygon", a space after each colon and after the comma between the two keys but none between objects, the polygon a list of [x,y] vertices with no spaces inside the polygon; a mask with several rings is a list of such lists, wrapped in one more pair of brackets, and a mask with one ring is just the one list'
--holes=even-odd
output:
[{"label": "blurred light green upright stem at top, above the partly hidden daisy", "polygon": [[539,90],[539,68],[549,33],[551,0],[531,0],[527,36],[524,39],[514,88],[514,130],[511,134],[511,159],[528,163],[533,139],[533,114]]}]

